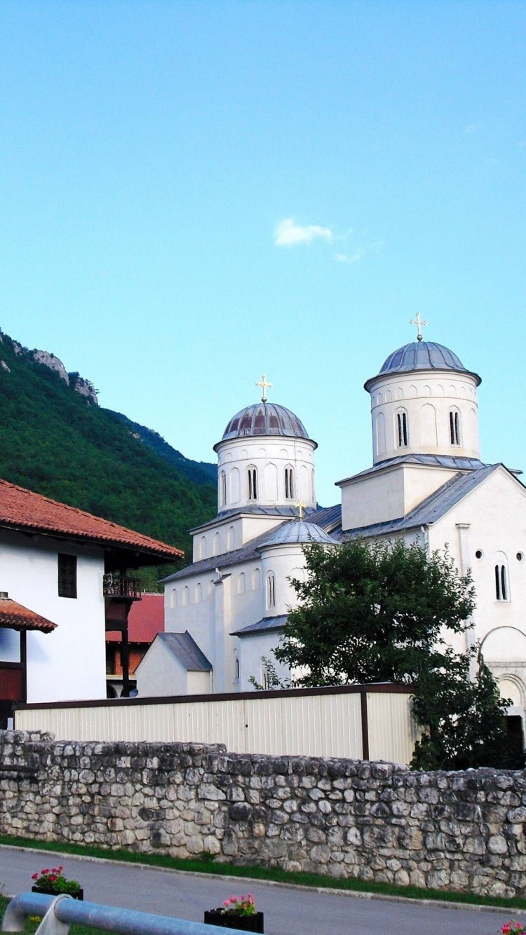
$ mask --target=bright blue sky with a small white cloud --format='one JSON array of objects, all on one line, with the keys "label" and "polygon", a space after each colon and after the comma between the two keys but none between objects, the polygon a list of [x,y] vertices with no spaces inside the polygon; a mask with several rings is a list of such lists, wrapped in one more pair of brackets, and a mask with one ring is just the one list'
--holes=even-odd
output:
[{"label": "bright blue sky with a small white cloud", "polygon": [[270,398],[318,496],[413,338],[526,468],[524,3],[0,0],[0,326],[212,460]]}]

